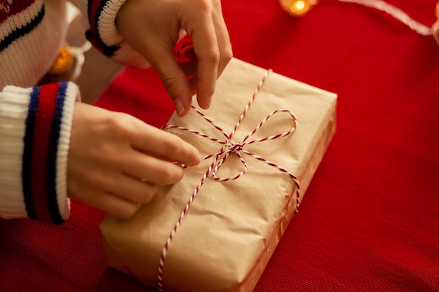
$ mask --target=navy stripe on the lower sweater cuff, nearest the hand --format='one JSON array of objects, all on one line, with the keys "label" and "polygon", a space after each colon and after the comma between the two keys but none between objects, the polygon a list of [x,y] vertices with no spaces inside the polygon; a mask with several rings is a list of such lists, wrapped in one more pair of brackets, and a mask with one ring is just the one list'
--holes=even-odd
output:
[{"label": "navy stripe on the lower sweater cuff, nearest the hand", "polygon": [[60,130],[62,124],[62,111],[64,109],[64,102],[67,92],[67,82],[60,83],[58,88],[58,95],[56,97],[55,115],[52,121],[52,127],[50,130],[50,141],[48,147],[47,156],[47,200],[48,209],[53,223],[61,224],[64,222],[60,214],[60,208],[58,207],[57,191],[56,191],[56,166],[58,156],[58,144],[60,141]]}]

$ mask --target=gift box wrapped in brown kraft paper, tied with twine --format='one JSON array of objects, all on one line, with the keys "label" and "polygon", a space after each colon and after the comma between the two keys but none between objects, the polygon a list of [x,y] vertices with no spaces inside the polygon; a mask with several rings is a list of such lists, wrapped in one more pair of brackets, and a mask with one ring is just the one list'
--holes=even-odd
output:
[{"label": "gift box wrapped in brown kraft paper, tied with twine", "polygon": [[[268,76],[267,76],[268,75]],[[252,291],[335,132],[337,95],[233,59],[165,130],[205,159],[100,228],[109,267],[163,291]]]}]

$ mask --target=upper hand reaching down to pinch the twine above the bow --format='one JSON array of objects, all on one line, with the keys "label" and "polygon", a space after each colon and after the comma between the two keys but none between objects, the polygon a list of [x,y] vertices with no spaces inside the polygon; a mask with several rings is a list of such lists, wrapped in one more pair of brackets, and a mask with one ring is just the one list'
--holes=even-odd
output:
[{"label": "upper hand reaching down to pinch the twine above the bow", "polygon": [[[188,113],[195,92],[201,108],[208,109],[215,82],[232,57],[219,0],[128,0],[116,25],[156,69],[179,116]],[[184,69],[174,53],[181,29],[192,37],[195,53],[192,66]]]}]

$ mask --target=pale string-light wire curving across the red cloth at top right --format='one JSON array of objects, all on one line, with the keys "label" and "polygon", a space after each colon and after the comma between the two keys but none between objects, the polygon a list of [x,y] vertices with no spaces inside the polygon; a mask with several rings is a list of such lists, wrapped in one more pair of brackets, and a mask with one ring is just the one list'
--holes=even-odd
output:
[{"label": "pale string-light wire curving across the red cloth at top right", "polygon": [[[366,7],[375,8],[379,11],[383,11],[393,18],[396,18],[400,22],[403,22],[405,25],[413,29],[414,32],[421,34],[423,36],[431,36],[433,34],[433,29],[431,27],[427,27],[423,25],[421,22],[414,20],[407,13],[402,11],[400,8],[393,6],[385,1],[381,0],[339,0],[340,2],[345,3],[354,3],[360,4]],[[438,43],[439,44],[439,43]]]}]

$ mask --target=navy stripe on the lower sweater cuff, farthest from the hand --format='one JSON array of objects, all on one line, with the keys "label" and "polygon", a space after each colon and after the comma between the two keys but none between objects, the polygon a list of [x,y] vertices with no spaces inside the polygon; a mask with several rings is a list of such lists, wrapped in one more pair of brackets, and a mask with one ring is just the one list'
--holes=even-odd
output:
[{"label": "navy stripe on the lower sweater cuff, farthest from the hand", "polygon": [[29,218],[37,219],[32,200],[32,149],[34,143],[34,125],[36,119],[36,111],[38,111],[39,92],[41,88],[34,87],[30,95],[29,111],[26,118],[25,130],[25,148],[22,159],[22,187],[25,197],[26,211]]}]

